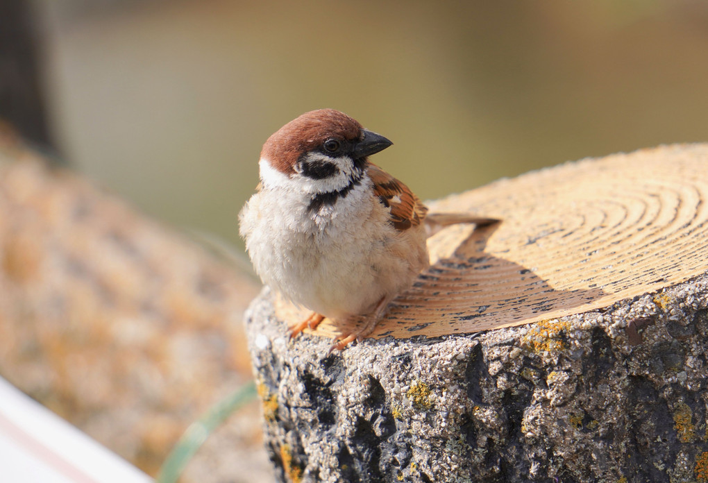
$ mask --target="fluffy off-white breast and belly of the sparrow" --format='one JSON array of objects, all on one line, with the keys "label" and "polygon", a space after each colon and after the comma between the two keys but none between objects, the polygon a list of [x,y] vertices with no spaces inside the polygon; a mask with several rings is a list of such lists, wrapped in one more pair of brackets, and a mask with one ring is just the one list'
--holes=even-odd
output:
[{"label": "fluffy off-white breast and belly of the sparrow", "polygon": [[314,213],[310,193],[270,171],[241,210],[241,235],[263,282],[292,302],[334,319],[362,314],[427,266],[422,227],[397,232],[369,178]]}]

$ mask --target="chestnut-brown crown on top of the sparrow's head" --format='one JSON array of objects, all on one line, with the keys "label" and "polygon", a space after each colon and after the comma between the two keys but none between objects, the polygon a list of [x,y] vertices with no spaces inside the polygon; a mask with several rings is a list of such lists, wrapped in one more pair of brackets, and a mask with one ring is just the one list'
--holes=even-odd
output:
[{"label": "chestnut-brown crown on top of the sparrow's head", "polygon": [[263,144],[261,158],[285,174],[295,173],[295,163],[304,152],[312,151],[330,137],[357,140],[362,126],[345,113],[334,109],[318,109],[293,119]]}]

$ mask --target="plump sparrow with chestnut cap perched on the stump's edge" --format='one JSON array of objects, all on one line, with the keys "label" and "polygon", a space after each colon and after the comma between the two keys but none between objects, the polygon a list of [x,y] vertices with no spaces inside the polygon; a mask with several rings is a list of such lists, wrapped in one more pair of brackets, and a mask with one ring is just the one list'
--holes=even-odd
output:
[{"label": "plump sparrow with chestnut cap perched on the stump's edge", "polygon": [[304,113],[263,144],[261,182],[239,213],[239,228],[263,283],[312,310],[290,327],[291,337],[327,317],[357,327],[330,352],[361,341],[428,268],[428,208],[369,161],[392,144],[334,109]]}]

